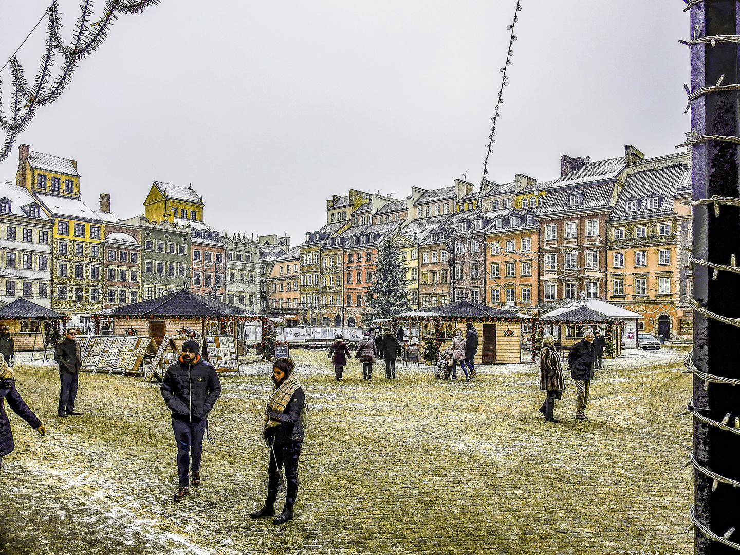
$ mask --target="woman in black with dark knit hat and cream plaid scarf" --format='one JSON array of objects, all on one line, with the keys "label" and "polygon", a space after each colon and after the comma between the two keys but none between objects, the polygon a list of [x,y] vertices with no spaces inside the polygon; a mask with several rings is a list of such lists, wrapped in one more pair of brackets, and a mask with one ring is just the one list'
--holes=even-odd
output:
[{"label": "woman in black with dark knit hat and cream plaid scarf", "polygon": [[293,505],[298,493],[298,457],[303,446],[303,404],[306,394],[295,379],[295,363],[289,358],[278,358],[272,366],[270,380],[274,384],[267,402],[262,437],[269,446],[267,467],[267,497],[259,511],[249,514],[253,519],[275,516],[277,491],[282,482],[280,467],[285,466],[288,482],[285,505],[273,524],[283,524],[293,518]]}]

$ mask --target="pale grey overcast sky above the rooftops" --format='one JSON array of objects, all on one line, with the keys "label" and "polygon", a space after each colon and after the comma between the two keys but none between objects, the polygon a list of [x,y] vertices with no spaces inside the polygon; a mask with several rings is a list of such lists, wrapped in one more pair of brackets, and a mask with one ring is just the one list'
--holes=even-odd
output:
[{"label": "pale grey overcast sky above the rooftops", "polygon": [[[2,63],[50,0],[0,2]],[[59,0],[68,36],[79,0]],[[98,1],[98,9],[104,2]],[[560,155],[676,152],[690,119],[677,0],[522,0],[488,177],[559,177]],[[516,0],[162,0],[121,16],[18,145],[78,161],[84,201],[131,218],[154,181],[192,184],[206,223],[286,233],[349,188],[480,183]],[[19,52],[36,75],[46,24]],[[1,65],[1,63],[0,63]],[[10,72],[0,73],[2,99]]]}]

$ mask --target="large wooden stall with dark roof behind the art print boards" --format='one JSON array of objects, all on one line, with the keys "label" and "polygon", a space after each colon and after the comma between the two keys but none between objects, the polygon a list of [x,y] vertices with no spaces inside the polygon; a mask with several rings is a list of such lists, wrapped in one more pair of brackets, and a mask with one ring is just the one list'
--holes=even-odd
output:
[{"label": "large wooden stall with dark roof behind the art print boards", "polygon": [[[187,289],[142,300],[140,303],[107,309],[92,314],[92,317],[95,320],[95,331],[98,333],[101,320],[109,320],[112,322],[113,334],[153,337],[157,346],[161,346],[165,337],[176,337],[188,328],[194,329],[206,340],[204,348],[215,351],[217,358],[221,357],[219,353],[222,349],[226,350],[226,340],[229,337],[232,337],[228,341],[229,347],[237,344],[236,335],[240,321],[260,322],[263,341],[265,331],[270,327],[270,320],[266,314],[258,314],[236,305],[221,303],[219,300],[197,295]],[[209,340],[209,337],[212,337],[212,340]],[[184,343],[182,338],[176,338],[175,341],[178,349]],[[232,363],[235,356],[235,351],[232,349]],[[212,360],[211,362],[218,370],[238,370],[238,368],[232,368],[232,364],[226,364],[226,361]],[[218,362],[224,362],[225,366],[218,366]]]}]

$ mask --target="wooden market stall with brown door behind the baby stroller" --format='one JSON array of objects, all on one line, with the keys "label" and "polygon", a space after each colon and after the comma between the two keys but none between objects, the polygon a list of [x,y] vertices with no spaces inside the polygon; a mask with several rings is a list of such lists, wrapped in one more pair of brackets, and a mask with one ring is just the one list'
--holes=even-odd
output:
[{"label": "wooden market stall with brown door behind the baby stroller", "polygon": [[478,352],[475,364],[520,363],[522,356],[522,323],[525,317],[515,312],[496,309],[469,300],[430,306],[412,312],[403,312],[394,317],[393,329],[402,323],[406,329],[419,328],[420,349],[423,354],[427,340],[433,340],[436,354],[452,343],[454,330],[460,328],[462,336],[467,331],[465,324],[471,322],[478,332]]}]

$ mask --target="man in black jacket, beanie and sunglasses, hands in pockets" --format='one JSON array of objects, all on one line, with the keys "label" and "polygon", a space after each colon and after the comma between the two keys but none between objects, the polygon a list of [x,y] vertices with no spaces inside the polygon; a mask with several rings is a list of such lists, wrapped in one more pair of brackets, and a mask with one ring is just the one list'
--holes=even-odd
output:
[{"label": "man in black jacket, beanie and sunglasses, hands in pockets", "polygon": [[160,388],[164,402],[172,411],[172,431],[178,443],[178,478],[180,489],[175,501],[190,493],[188,467],[192,450],[192,485],[201,485],[203,434],[208,413],[221,394],[221,380],[216,369],[203,360],[196,340],[183,343],[178,362],[164,373]]}]

